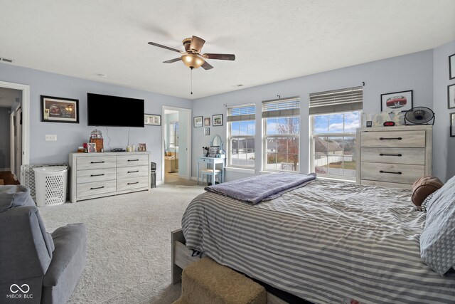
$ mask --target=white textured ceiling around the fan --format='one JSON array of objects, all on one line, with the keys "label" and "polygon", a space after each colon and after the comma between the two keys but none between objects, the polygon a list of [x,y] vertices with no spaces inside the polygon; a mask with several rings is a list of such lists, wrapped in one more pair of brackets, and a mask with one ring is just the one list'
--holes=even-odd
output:
[{"label": "white textured ceiling around the fan", "polygon": [[[0,8],[0,57],[14,65],[190,99],[455,39],[454,0],[0,0]],[[183,50],[192,35],[205,39],[203,53],[236,60],[193,70],[190,95],[190,69],[162,63],[178,53],[147,42]]]}]

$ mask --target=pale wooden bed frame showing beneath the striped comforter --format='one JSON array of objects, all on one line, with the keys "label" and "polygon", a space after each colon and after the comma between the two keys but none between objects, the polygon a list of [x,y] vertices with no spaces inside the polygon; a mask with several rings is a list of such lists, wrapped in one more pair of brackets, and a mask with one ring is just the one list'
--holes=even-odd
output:
[{"label": "pale wooden bed frame showing beneath the striped comforter", "polygon": [[[185,236],[182,229],[171,231],[171,281],[176,284],[182,279],[183,268],[194,261],[198,261],[199,256],[191,256],[193,251],[185,246]],[[267,304],[287,304],[286,301],[276,295],[267,292]]]}]

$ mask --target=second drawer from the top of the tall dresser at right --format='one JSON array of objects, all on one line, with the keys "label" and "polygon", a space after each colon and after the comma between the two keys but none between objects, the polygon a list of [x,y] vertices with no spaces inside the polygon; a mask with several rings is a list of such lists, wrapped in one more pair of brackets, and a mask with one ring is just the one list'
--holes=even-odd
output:
[{"label": "second drawer from the top of the tall dresser at right", "polygon": [[425,164],[425,148],[362,147],[362,162]]}]

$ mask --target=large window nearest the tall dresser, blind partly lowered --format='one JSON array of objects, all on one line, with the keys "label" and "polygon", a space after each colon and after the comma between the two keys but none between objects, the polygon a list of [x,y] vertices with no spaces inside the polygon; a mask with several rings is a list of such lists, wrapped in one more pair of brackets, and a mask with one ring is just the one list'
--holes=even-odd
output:
[{"label": "large window nearest the tall dresser, blind partly lowered", "polygon": [[355,129],[360,127],[363,88],[310,94],[311,169],[336,179],[355,179]]}]

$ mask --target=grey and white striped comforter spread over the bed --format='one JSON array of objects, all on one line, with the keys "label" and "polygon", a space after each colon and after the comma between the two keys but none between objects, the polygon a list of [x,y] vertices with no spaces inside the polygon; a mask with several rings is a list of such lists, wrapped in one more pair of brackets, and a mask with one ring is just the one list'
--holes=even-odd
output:
[{"label": "grey and white striped comforter spread over the bed", "polygon": [[321,179],[256,205],[206,192],[182,229],[189,248],[314,303],[455,303],[455,273],[420,259],[410,196]]}]

